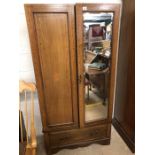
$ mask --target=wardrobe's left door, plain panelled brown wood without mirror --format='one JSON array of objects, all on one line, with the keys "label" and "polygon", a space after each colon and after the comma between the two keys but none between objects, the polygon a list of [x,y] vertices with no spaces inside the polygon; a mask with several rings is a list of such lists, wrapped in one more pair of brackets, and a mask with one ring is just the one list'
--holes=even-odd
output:
[{"label": "wardrobe's left door, plain panelled brown wood without mirror", "polygon": [[77,127],[74,6],[25,9],[44,130]]}]

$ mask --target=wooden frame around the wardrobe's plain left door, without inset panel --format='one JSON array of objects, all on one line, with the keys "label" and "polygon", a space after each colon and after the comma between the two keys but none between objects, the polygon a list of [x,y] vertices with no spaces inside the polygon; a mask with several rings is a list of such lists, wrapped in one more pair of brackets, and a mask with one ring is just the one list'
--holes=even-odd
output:
[{"label": "wooden frame around the wardrobe's plain left door, without inset panel", "polygon": [[[32,59],[35,70],[36,85],[39,97],[39,106],[41,111],[41,120],[43,125],[43,132],[66,130],[78,128],[78,102],[77,102],[77,67],[76,67],[76,51],[75,51],[75,17],[74,5],[70,4],[25,4],[25,14],[30,38],[30,45],[32,51]],[[44,85],[41,71],[41,63],[39,57],[39,46],[37,42],[37,33],[35,27],[34,13],[67,13],[69,25],[69,48],[71,53],[71,71],[75,76],[72,78],[72,99],[73,99],[73,123],[62,124],[58,126],[48,125],[46,116],[46,104],[44,97]],[[62,89],[62,91],[66,91]]]}]

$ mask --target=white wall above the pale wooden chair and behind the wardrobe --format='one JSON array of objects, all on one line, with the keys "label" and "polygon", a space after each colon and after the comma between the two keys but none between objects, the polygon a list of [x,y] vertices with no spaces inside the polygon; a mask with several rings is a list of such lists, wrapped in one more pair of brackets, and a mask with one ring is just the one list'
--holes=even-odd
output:
[{"label": "white wall above the pale wooden chair and behind the wardrobe", "polygon": [[[89,0],[89,1],[81,1],[81,0],[70,0],[70,1],[60,1],[57,0],[57,3],[77,3],[77,2],[86,2],[86,3],[121,3],[121,0]],[[29,43],[29,36],[24,12],[24,3],[49,3],[52,4],[52,0],[44,1],[44,0],[21,0],[18,8],[19,8],[19,35],[20,35],[20,43],[19,43],[19,79],[25,80],[28,82],[35,82],[34,76],[34,68],[32,63],[31,56],[31,48]],[[55,3],[55,1],[53,1]]]}]

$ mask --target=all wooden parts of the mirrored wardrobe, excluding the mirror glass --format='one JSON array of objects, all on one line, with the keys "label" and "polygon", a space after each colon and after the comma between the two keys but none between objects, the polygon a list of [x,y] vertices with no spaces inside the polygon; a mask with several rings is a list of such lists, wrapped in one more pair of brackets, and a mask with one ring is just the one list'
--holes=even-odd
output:
[{"label": "all wooden parts of the mirrored wardrobe, excluding the mirror glass", "polygon": [[[110,144],[120,4],[25,4],[25,12],[47,153]],[[106,117],[91,122],[85,121],[86,12],[114,15]]]}]

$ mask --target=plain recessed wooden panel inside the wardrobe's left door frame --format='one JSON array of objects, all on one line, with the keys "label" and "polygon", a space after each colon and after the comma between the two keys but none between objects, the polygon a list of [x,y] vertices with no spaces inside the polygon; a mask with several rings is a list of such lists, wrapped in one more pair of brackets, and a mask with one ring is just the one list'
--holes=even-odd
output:
[{"label": "plain recessed wooden panel inside the wardrobe's left door frame", "polygon": [[35,23],[48,124],[73,122],[67,14],[38,13]]}]

